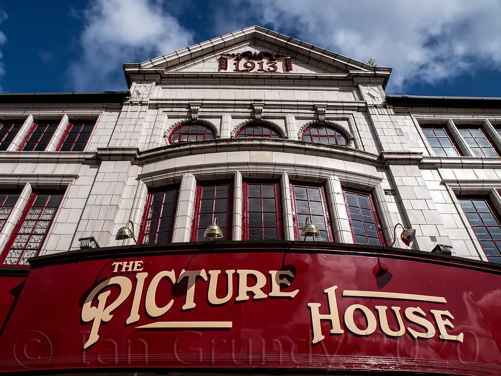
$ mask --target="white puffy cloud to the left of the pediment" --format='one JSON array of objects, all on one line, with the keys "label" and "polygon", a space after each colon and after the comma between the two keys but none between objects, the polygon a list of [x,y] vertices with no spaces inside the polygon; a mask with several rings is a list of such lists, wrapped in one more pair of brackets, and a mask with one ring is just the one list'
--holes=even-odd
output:
[{"label": "white puffy cloud to the left of the pediment", "polygon": [[126,89],[122,64],[140,63],[193,42],[190,31],[150,0],[93,0],[83,12],[82,54],[68,69],[75,91]]}]

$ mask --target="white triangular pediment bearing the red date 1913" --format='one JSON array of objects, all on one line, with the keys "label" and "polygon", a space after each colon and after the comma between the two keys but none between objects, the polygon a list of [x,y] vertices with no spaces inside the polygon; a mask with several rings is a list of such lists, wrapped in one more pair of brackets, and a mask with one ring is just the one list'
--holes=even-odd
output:
[{"label": "white triangular pediment bearing the red date 1913", "polygon": [[233,72],[284,73],[288,76],[389,76],[391,72],[391,68],[373,67],[259,26],[238,30],[140,64],[124,65],[128,82],[131,74],[158,70],[167,76]]}]

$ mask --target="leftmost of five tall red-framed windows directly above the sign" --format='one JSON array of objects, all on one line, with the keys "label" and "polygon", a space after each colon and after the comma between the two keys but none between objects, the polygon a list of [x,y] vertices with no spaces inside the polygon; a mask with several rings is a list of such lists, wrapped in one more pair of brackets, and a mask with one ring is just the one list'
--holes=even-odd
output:
[{"label": "leftmost of five tall red-framed windows directly above the sign", "polygon": [[138,243],[169,243],[172,239],[178,187],[148,194]]}]

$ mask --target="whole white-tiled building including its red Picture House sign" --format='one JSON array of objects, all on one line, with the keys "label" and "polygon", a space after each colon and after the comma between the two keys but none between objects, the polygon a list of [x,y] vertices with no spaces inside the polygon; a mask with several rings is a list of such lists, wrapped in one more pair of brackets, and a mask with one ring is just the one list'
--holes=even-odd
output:
[{"label": "whole white-tiled building including its red Picture House sign", "polygon": [[386,95],[260,27],[124,73],[0,95],[0,370],[499,374],[501,99]]}]

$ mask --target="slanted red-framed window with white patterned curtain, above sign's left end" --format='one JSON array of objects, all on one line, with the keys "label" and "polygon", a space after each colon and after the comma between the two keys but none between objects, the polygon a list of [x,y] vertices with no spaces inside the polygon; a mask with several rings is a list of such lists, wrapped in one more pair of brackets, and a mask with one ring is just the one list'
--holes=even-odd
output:
[{"label": "slanted red-framed window with white patterned curtain, above sign's left end", "polygon": [[5,265],[27,265],[39,254],[62,197],[62,193],[32,193],[4,249]]}]

